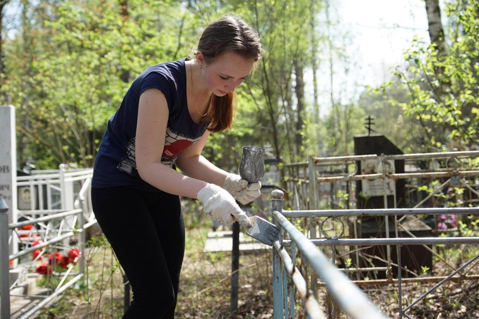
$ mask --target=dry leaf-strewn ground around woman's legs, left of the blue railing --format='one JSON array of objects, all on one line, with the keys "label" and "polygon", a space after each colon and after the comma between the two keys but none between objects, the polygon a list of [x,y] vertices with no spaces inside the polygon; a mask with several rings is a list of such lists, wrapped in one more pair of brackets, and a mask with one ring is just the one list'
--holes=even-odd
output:
[{"label": "dry leaf-strewn ground around woman's legs, left of the blue railing", "polygon": [[[208,227],[203,226],[186,230],[175,318],[272,318],[271,252],[257,251],[240,257],[239,311],[232,315],[231,253],[204,253]],[[117,263],[111,248],[102,245],[85,251],[90,303],[86,284],[77,285],[80,289],[67,290],[65,297],[44,309],[37,318],[121,318],[123,276],[122,270],[116,268],[110,277],[112,266]],[[131,295],[130,291],[130,300]]]}]

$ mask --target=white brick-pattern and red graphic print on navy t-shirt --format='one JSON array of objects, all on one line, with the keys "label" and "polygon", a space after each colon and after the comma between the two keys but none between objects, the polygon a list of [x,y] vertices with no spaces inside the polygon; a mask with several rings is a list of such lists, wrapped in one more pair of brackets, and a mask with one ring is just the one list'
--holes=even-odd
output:
[{"label": "white brick-pattern and red graphic print on navy t-shirt", "polygon": [[[173,132],[169,127],[166,128],[165,146],[163,147],[161,164],[172,167],[178,154],[187,149],[193,143],[198,142],[200,138],[201,136],[193,139]],[[130,139],[128,142],[128,145],[126,146],[126,156],[122,158],[117,168],[129,175],[139,176],[135,160],[135,138]]]}]

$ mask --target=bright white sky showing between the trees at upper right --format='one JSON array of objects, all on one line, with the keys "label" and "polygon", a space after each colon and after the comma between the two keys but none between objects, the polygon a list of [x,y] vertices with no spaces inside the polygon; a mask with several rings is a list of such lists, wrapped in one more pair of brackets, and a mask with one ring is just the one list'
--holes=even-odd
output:
[{"label": "bright white sky showing between the trees at upper right", "polygon": [[[443,1],[440,2],[444,8]],[[366,85],[374,87],[389,80],[388,69],[401,64],[402,55],[415,35],[430,41],[423,0],[331,0],[331,11],[331,20],[339,22],[334,32],[345,33],[350,38],[346,51],[351,62],[348,76],[344,75],[344,66],[334,63],[333,96],[342,103],[357,99]],[[319,58],[319,104],[324,116],[331,109],[327,48]],[[312,103],[311,71],[305,72],[305,85],[306,99]]]}]

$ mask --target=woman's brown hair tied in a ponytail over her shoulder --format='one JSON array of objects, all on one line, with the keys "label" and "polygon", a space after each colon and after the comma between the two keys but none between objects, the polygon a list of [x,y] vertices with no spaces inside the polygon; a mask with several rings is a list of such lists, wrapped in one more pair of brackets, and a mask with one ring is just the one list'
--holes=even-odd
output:
[{"label": "woman's brown hair tied in a ponytail over her shoulder", "polygon": [[[261,40],[246,22],[238,16],[228,14],[211,22],[203,31],[198,42],[206,63],[213,62],[225,51],[234,51],[244,58],[253,58],[253,71],[262,56]],[[208,130],[221,132],[232,128],[236,111],[236,90],[225,96],[213,95],[204,121],[209,121]]]}]

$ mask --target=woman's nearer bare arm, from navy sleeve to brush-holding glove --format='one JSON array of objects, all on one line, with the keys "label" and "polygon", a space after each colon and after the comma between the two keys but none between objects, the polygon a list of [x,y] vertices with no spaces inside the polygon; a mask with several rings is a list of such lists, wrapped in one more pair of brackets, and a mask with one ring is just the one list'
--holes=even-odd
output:
[{"label": "woman's nearer bare arm, from navy sleeve to brush-holding glove", "polygon": [[150,88],[141,94],[135,142],[138,174],[144,181],[162,191],[196,198],[196,194],[207,182],[183,176],[161,164],[168,115],[168,104],[159,89]]}]

